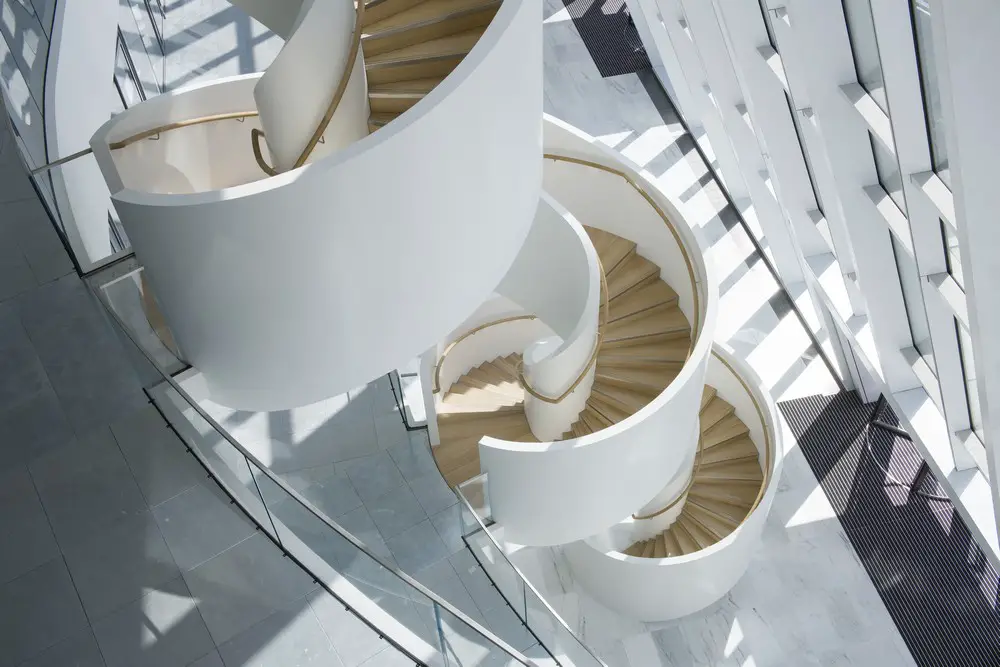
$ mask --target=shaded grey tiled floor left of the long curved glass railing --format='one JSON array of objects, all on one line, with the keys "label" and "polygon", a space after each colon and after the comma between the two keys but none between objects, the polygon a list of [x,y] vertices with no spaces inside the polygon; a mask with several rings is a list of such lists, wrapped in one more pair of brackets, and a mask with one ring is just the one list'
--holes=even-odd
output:
[{"label": "shaded grey tiled floor left of the long curved glass railing", "polygon": [[0,130],[0,667],[398,665],[147,402],[9,141]]}]

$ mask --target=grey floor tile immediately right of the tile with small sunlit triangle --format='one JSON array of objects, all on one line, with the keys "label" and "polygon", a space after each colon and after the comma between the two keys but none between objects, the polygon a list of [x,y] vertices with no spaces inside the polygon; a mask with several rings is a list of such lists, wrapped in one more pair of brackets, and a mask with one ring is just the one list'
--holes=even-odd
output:
[{"label": "grey floor tile immediately right of the tile with small sunlit triangle", "polygon": [[257,534],[185,572],[216,644],[229,641],[314,588],[312,578]]}]

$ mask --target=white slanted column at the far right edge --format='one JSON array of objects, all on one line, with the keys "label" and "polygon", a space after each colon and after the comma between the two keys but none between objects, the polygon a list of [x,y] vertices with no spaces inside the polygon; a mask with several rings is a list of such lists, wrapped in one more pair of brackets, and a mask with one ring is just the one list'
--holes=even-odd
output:
[{"label": "white slanted column at the far right edge", "polygon": [[[953,118],[952,189],[964,261],[969,324],[994,507],[1000,506],[1000,5],[994,0],[932,3],[944,19]],[[979,297],[977,299],[977,297]]]}]

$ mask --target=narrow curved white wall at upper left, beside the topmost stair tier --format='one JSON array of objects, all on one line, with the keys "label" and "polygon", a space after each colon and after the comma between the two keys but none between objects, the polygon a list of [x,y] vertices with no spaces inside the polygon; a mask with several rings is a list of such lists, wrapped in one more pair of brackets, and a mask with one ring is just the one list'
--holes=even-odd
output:
[{"label": "narrow curved white wall at upper left, beside the topmost stair tier", "polygon": [[[55,8],[45,77],[48,161],[86,148],[108,119],[118,10],[116,0],[67,1]],[[54,170],[52,185],[66,236],[87,271],[111,254],[108,186],[90,158]]]}]

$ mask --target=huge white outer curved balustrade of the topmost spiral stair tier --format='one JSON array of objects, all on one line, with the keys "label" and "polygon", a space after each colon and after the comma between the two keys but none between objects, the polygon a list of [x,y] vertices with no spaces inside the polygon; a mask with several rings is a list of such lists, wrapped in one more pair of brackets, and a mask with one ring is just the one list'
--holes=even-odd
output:
[{"label": "huge white outer curved balustrade of the topmost spiral stair tier", "polygon": [[[212,189],[238,180],[216,174],[220,164],[257,169],[249,119],[109,150],[164,122],[239,110],[249,80],[150,100],[101,128],[92,146],[115,207],[212,400],[279,410],[341,393],[429,349],[488,298],[538,202],[541,26],[537,2],[506,0],[469,55],[405,114],[256,182]],[[216,152],[207,136],[223,124],[243,126],[246,153]],[[173,146],[157,154],[149,144],[165,138]],[[186,173],[199,163],[211,178]],[[158,171],[193,187],[165,193]]]}]

